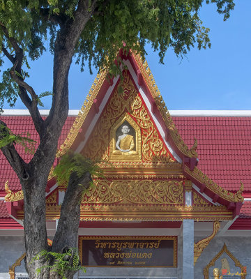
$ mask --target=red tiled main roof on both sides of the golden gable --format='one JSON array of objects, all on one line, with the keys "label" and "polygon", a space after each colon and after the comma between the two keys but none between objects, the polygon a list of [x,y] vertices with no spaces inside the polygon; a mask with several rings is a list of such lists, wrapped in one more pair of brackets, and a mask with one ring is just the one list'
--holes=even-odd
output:
[{"label": "red tiled main roof on both sides of the golden gable", "polygon": [[[30,116],[1,116],[13,133],[31,134],[38,141]],[[68,116],[59,139],[59,146],[68,135],[75,120]],[[196,137],[198,146],[198,167],[219,186],[227,190],[238,190],[240,181],[244,183],[245,191],[251,191],[251,117],[173,117],[181,137],[188,147],[191,147]],[[31,155],[24,153],[17,146],[25,160]],[[20,190],[17,176],[0,152],[0,192],[8,180],[11,190]]]}]

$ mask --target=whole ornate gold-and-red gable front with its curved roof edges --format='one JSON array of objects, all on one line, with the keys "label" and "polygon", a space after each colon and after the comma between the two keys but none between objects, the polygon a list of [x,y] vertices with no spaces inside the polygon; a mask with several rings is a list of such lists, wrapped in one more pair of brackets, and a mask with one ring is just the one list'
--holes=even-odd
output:
[{"label": "whole ornate gold-and-red gable front with its curved roof edges", "polygon": [[[146,61],[133,53],[124,59],[123,93],[119,77],[107,80],[107,70],[98,74],[56,153],[59,158],[72,149],[112,163],[100,164],[105,177],[84,195],[81,219],[231,220],[241,208],[243,186],[231,193],[196,167],[197,140],[189,149],[181,139]],[[194,186],[192,206],[185,206],[187,181]],[[47,196],[49,220],[60,216],[59,190],[63,186]],[[22,192],[13,194],[7,183],[6,193],[6,201],[22,199]],[[23,218],[22,209],[17,218]]]}]

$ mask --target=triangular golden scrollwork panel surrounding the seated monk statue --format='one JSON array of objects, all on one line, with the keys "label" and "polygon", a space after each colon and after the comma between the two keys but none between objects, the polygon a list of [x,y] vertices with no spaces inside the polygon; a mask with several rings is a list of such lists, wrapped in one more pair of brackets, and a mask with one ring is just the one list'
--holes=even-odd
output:
[{"label": "triangular golden scrollwork panel surrounding the seated monk statue", "polygon": [[[127,70],[123,77],[123,93],[120,94],[116,87],[82,154],[88,158],[102,158],[116,163],[139,160],[174,162]],[[123,126],[128,126],[128,134],[132,132],[130,136],[134,140],[134,147],[130,147],[131,142],[128,140],[128,152],[121,152],[116,147]]]}]

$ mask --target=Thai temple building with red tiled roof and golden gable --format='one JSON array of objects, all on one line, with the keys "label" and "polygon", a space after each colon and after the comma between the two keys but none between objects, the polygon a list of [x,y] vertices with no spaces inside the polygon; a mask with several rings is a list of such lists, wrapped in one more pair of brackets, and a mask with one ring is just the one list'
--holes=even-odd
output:
[{"label": "Thai temple building with red tiled roof and golden gable", "polygon": [[[69,150],[102,159],[104,177],[82,198],[86,273],[75,277],[251,279],[251,112],[169,113],[146,61],[119,55],[123,80],[98,74],[78,114],[69,112],[54,161]],[[38,141],[28,112],[0,117]],[[0,279],[28,278],[23,193],[2,153],[0,164]],[[51,172],[52,241],[65,191]]]}]

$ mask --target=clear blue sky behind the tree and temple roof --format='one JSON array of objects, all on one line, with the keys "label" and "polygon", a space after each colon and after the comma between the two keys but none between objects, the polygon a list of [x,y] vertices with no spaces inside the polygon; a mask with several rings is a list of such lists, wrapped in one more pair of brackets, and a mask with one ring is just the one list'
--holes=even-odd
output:
[{"label": "clear blue sky behind the tree and temple roof", "polygon": [[[165,65],[147,46],[155,82],[169,110],[251,110],[251,1],[236,0],[234,11],[226,22],[214,4],[204,5],[201,20],[211,29],[211,49],[192,49],[183,60],[168,50]],[[31,63],[29,83],[36,93],[52,90],[52,56],[45,54]],[[79,110],[96,71],[80,73],[72,65],[69,75],[70,109]],[[44,109],[50,109],[50,98],[44,98]],[[8,106],[6,105],[7,109]],[[17,102],[16,109],[24,109]]]}]

